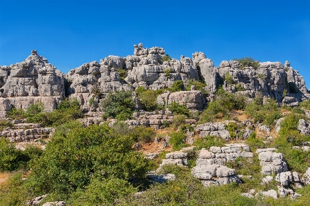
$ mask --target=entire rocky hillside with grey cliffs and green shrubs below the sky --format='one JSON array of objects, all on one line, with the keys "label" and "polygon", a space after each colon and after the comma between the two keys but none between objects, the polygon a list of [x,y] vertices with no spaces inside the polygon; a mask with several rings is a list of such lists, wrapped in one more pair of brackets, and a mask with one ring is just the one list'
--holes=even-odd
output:
[{"label": "entire rocky hillside with grey cliffs and green shrubs below the sky", "polygon": [[68,74],[32,50],[0,74],[0,205],[310,205],[310,91],[289,61],[139,43]]}]

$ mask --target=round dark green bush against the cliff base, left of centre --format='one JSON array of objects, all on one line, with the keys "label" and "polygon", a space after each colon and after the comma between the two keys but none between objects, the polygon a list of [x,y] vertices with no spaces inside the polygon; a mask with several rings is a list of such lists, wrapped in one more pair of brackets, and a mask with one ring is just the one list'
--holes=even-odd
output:
[{"label": "round dark green bush against the cliff base, left of centre", "polygon": [[103,99],[101,108],[105,112],[104,118],[115,118],[118,121],[125,121],[132,117],[135,110],[134,100],[131,91],[115,91],[107,94]]}]

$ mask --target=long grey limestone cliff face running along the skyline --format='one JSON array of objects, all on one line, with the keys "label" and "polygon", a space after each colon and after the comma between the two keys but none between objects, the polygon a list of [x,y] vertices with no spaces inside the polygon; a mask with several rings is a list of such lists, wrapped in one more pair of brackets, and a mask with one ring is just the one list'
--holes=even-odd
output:
[{"label": "long grey limestone cliff face running along the skyline", "polygon": [[[52,111],[65,94],[77,98],[85,112],[99,111],[98,103],[108,92],[135,90],[138,86],[158,90],[171,87],[178,80],[187,85],[189,79],[205,81],[208,101],[212,101],[220,84],[227,92],[245,94],[249,99],[261,93],[265,98],[291,106],[309,99],[302,76],[287,61],[285,66],[280,62],[264,62],[256,69],[240,69],[238,61],[222,61],[216,68],[202,52],[195,52],[192,59],[181,56],[180,61],[163,62],[167,57],[164,56],[163,48],[147,49],[139,43],[134,45],[134,55],[107,56],[100,63],[84,63],[64,75],[33,50],[21,63],[0,66],[0,116],[6,116],[12,105],[26,109],[39,102],[44,104],[45,111]],[[225,79],[228,74],[229,81]],[[95,104],[90,105],[92,98]],[[200,102],[197,104],[201,110]]]}]

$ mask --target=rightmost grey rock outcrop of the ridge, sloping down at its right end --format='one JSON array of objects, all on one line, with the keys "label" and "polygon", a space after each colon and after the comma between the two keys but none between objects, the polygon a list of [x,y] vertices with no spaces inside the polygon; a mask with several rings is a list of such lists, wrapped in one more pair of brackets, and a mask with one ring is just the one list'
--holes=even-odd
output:
[{"label": "rightmost grey rock outcrop of the ridge, sloping down at its right end", "polygon": [[[298,105],[309,99],[309,93],[302,76],[298,71],[285,67],[280,62],[263,62],[256,68],[240,69],[238,61],[222,61],[218,67],[221,79],[229,74],[231,79],[224,81],[224,89],[228,92],[240,93],[254,98],[262,94],[265,98],[273,98],[285,105]],[[238,85],[238,86],[237,86]]]}]

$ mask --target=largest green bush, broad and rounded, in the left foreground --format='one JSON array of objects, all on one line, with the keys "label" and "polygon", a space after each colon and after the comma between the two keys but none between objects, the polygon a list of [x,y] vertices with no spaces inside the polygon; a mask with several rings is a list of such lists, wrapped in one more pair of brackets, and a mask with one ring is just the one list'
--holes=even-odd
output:
[{"label": "largest green bush, broad and rounded, in the left foreground", "polygon": [[31,164],[28,179],[34,194],[71,194],[91,178],[119,178],[136,183],[145,177],[149,162],[134,152],[130,135],[120,135],[107,124],[74,127],[56,132],[40,158]]}]

